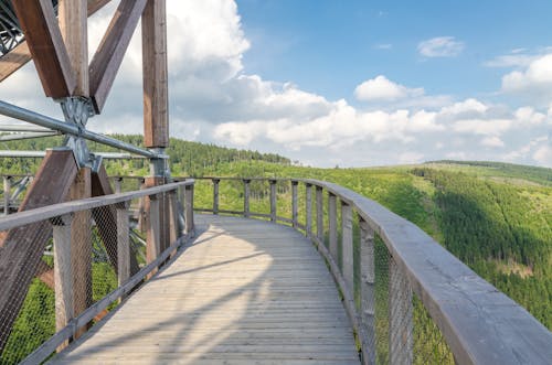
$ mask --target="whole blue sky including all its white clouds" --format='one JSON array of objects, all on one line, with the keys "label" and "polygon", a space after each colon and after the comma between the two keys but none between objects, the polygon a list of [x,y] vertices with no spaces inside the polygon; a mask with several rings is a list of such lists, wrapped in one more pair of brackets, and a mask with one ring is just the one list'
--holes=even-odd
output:
[{"label": "whole blue sky including all its white clouds", "polygon": [[[89,21],[91,54],[116,3]],[[167,4],[173,137],[316,167],[552,168],[552,1]],[[138,30],[91,129],[142,133],[140,44]],[[0,99],[62,117],[32,64]]]}]

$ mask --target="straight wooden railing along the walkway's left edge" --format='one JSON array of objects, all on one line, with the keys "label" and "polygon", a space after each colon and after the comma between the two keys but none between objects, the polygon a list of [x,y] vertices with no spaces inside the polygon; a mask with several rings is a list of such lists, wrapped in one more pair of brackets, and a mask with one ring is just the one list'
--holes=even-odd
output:
[{"label": "straight wooden railing along the walkway's left edge", "polygon": [[[15,213],[0,219],[0,233],[11,229],[34,229],[33,227],[43,229],[49,226],[39,226],[36,223],[44,222],[50,224],[53,233],[56,333],[30,354],[23,363],[39,364],[56,348],[62,350],[70,339],[76,337],[93,319],[135,290],[144,279],[149,278],[161,265],[167,262],[188,238],[193,236],[193,186],[194,181],[187,180],[140,191],[50,205]],[[128,208],[130,201],[139,198],[148,200],[146,212],[149,217],[146,227],[148,258],[145,266],[131,275]],[[87,213],[88,219],[96,221],[98,230],[103,229],[99,235],[102,235],[104,245],[107,246],[107,240],[114,243],[116,253],[115,255],[110,253],[110,255],[115,257],[113,264],[117,272],[118,287],[103,299],[85,308],[81,313],[74,313],[74,300],[78,294],[92,298],[89,283],[81,288],[85,291],[84,293],[77,293],[79,289],[74,288],[75,278],[84,271],[91,271],[92,266],[89,250],[85,251],[84,256],[82,253],[75,251],[78,243],[74,241],[75,233],[72,233],[72,222],[82,218],[83,212]],[[161,222],[160,217],[163,216],[163,222]],[[114,218],[115,222],[113,222]],[[164,224],[166,228],[161,224]],[[75,265],[75,255],[81,256],[82,261],[77,262],[83,266]],[[38,268],[29,268],[29,272],[33,272],[31,275],[35,275],[36,271]],[[89,282],[92,279],[84,280]],[[2,322],[3,314],[6,313],[0,313],[0,330],[6,331]]]}]

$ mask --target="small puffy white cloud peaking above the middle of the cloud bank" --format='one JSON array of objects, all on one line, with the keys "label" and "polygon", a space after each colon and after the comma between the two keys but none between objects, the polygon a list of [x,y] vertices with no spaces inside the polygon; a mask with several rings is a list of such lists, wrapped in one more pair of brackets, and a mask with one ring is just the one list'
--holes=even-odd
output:
[{"label": "small puffy white cloud peaking above the middle of the cloud bank", "polygon": [[390,101],[422,95],[424,95],[423,88],[407,88],[403,85],[393,83],[383,75],[368,79],[354,89],[357,99],[363,101]]}]

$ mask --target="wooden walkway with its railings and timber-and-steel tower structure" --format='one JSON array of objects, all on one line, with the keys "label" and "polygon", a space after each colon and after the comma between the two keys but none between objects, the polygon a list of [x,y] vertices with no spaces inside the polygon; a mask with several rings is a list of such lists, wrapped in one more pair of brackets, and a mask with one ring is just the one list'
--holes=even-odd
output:
[{"label": "wooden walkway with its railings and timber-and-steel tower structure", "polygon": [[[88,62],[87,17],[109,2],[0,0],[0,80],[32,60],[64,115],[0,101],[32,125],[1,139],[65,136],[21,202],[3,180],[1,364],[551,363],[551,332],[364,196],[316,180],[171,176],[166,2],[121,0]],[[87,129],[140,20],[144,148]],[[121,190],[86,141],[148,159],[150,175]]]}]

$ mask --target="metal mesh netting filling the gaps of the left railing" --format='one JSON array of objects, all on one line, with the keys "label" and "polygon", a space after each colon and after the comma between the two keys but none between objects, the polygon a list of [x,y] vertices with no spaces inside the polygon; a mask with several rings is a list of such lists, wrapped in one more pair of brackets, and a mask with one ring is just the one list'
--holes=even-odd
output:
[{"label": "metal mesh netting filling the gaps of the left railing", "polygon": [[[130,268],[136,272],[145,262],[145,235],[138,229],[139,200],[131,204],[130,215]],[[0,340],[2,350],[0,364],[14,364],[22,361],[32,351],[56,332],[56,310],[54,282],[54,243],[53,228],[60,228],[68,238],[71,249],[68,257],[72,275],[73,308],[68,314],[57,315],[59,326],[63,328],[64,315],[78,315],[94,302],[104,298],[118,287],[117,278],[117,225],[115,206],[104,206],[92,211],[77,212],[72,215],[71,228],[63,229],[62,219],[43,221],[0,233],[3,241],[2,270],[13,275],[10,293],[1,293],[0,298],[9,299],[0,311]],[[68,227],[68,226],[67,226]],[[55,228],[54,228],[55,229]],[[56,236],[57,237],[57,236]],[[14,255],[9,248],[17,248],[28,255]],[[31,249],[38,247],[38,249]],[[59,246],[55,246],[59,247]],[[62,250],[57,253],[61,258]],[[7,257],[11,260],[7,265]],[[62,264],[59,269],[62,270]],[[6,283],[2,283],[6,288]],[[61,292],[62,290],[60,290]],[[60,293],[59,293],[60,294]],[[9,298],[4,297],[9,296]],[[18,303],[18,298],[20,303]],[[114,308],[117,303],[113,303]],[[71,310],[73,313],[71,313]],[[102,319],[107,311],[99,313],[93,323]],[[91,324],[93,324],[91,323]],[[78,331],[77,334],[82,334]]]}]

